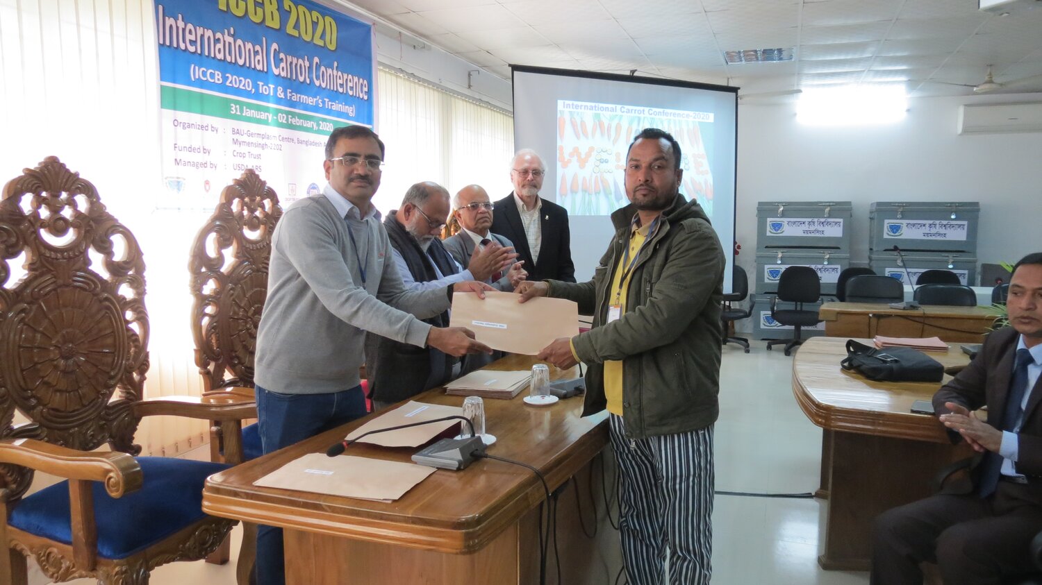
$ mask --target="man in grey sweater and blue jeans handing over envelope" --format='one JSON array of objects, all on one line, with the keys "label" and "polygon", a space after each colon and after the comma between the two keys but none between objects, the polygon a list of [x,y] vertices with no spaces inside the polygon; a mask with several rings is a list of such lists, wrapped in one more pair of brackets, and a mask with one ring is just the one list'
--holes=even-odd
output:
[{"label": "man in grey sweater and blue jeans handing over envelope", "polygon": [[[254,360],[265,454],[366,413],[358,370],[367,331],[453,356],[492,351],[467,329],[420,321],[448,309],[453,291],[483,298],[491,287],[404,288],[372,205],[383,154],[369,128],[333,130],[323,162],[329,183],[291,205],[272,234]],[[259,585],[284,583],[280,529],[259,527],[256,577]]]}]

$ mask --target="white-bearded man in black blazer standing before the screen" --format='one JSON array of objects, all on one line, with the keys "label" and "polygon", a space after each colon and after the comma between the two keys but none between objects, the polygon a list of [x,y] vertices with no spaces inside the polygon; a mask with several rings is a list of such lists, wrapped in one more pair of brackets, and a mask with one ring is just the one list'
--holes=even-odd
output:
[{"label": "white-bearded man in black blazer standing before the screen", "polygon": [[514,193],[496,202],[492,231],[514,243],[528,280],[575,282],[568,211],[539,196],[546,167],[536,151],[519,150],[511,161]]}]

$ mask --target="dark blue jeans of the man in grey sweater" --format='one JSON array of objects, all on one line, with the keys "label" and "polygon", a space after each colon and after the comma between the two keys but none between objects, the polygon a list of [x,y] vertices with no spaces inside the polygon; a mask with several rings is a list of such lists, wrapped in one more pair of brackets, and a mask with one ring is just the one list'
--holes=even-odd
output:
[{"label": "dark blue jeans of the man in grey sweater", "polygon": [[[364,416],[362,386],[324,395],[283,395],[255,389],[257,427],[265,455]],[[257,527],[257,585],[286,583],[282,529]]]}]

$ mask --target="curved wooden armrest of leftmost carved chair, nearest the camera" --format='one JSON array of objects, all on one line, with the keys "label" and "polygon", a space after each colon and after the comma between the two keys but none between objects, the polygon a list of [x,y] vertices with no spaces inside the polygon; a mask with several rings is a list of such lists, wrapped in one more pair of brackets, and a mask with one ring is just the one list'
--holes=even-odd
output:
[{"label": "curved wooden armrest of leftmost carved chair, nearest the camera", "polygon": [[69,480],[104,482],[113,498],[141,488],[141,465],[126,453],[77,451],[34,439],[0,440],[0,463],[11,463]]}]

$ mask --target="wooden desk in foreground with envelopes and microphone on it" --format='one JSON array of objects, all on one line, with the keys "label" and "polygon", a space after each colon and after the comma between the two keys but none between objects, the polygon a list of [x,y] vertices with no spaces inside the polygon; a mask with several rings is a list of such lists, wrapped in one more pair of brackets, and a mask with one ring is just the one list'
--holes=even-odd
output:
[{"label": "wooden desk in foreground with envelopes and microphone on it", "polygon": [[[527,370],[534,362],[529,356],[512,356],[490,368]],[[554,378],[578,375],[577,368],[550,371]],[[489,454],[539,468],[551,490],[576,476],[578,482],[565,486],[557,506],[562,583],[611,582],[620,566],[618,532],[601,523],[594,539],[584,536],[576,504],[576,498],[582,500],[587,530],[593,530],[587,470],[609,442],[606,412],[584,418],[580,397],[540,408],[525,405],[524,396],[526,390],[514,400],[485,401],[488,431],[498,438]],[[415,400],[463,404],[463,397],[446,396],[441,388]],[[367,419],[210,477],[203,510],[286,529],[290,584],[539,582],[539,511],[545,495],[539,479],[524,467],[482,459],[462,472],[438,469],[390,504],[253,486],[304,454],[325,452]],[[348,448],[350,455],[396,461],[410,461],[416,451],[362,443]],[[603,510],[600,482],[592,477]],[[552,551],[551,545],[548,583],[556,581]]]}]

